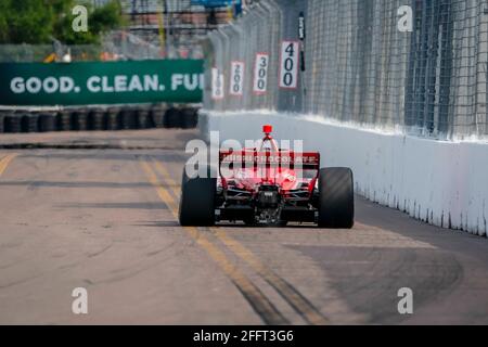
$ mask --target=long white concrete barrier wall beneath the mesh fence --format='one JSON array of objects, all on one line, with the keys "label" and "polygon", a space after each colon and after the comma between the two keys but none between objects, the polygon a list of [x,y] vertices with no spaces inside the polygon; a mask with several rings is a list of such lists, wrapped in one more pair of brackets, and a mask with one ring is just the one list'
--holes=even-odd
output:
[{"label": "long white concrete barrier wall beneath the mesh fence", "polygon": [[[487,235],[488,143],[426,140],[275,113],[203,112],[201,130],[220,140],[304,140],[322,166],[354,170],[358,194],[435,226]],[[207,138],[208,139],[208,138]],[[293,143],[293,142],[292,142]]]}]

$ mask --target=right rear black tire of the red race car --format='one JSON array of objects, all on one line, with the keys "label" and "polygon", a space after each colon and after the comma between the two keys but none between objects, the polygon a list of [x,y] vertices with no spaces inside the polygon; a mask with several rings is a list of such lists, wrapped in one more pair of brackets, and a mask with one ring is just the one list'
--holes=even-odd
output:
[{"label": "right rear black tire of the red race car", "polygon": [[319,227],[351,229],[355,223],[355,191],[349,168],[324,168],[319,174]]}]

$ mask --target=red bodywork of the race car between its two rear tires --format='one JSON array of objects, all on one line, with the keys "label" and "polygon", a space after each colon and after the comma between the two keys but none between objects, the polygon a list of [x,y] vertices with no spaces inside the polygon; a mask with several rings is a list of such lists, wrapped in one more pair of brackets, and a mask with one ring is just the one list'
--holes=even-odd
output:
[{"label": "red bodywork of the race car between its two rear tires", "polygon": [[257,216],[269,216],[275,208],[270,203],[273,201],[279,201],[277,216],[286,208],[309,206],[317,187],[320,154],[280,150],[271,130],[270,126],[264,127],[266,136],[258,149],[220,151],[217,191],[223,197],[222,214],[251,206]]}]

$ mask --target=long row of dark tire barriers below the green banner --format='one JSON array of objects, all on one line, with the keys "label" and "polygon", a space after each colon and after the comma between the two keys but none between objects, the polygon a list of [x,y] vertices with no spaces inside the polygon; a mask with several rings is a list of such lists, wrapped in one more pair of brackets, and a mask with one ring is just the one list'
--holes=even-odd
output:
[{"label": "long row of dark tire barriers below the green banner", "polygon": [[192,129],[198,108],[176,105],[73,107],[61,111],[0,111],[1,132]]}]

